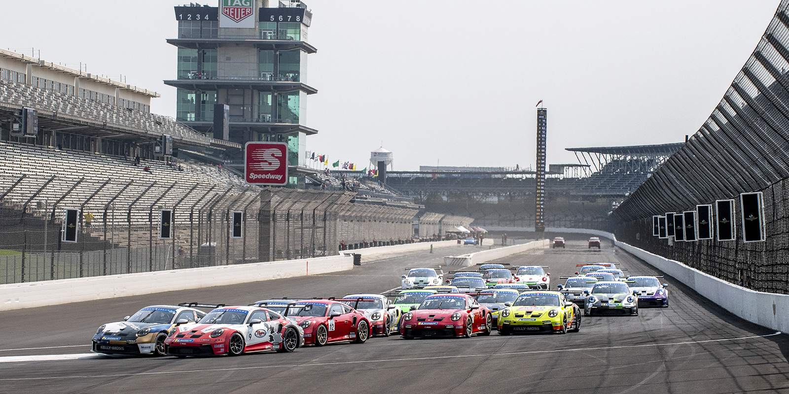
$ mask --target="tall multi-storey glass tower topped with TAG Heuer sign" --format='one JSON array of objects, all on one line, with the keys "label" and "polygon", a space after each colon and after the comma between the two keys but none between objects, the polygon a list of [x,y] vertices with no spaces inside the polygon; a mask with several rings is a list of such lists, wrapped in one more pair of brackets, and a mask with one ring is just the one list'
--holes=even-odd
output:
[{"label": "tall multi-storey glass tower topped with TAG Heuer sign", "polygon": [[[307,43],[312,13],[299,1],[219,0],[219,7],[175,7],[176,117],[214,139],[288,143],[290,185],[303,183],[307,126]],[[219,113],[217,113],[219,112]],[[243,166],[242,151],[185,152]]]}]

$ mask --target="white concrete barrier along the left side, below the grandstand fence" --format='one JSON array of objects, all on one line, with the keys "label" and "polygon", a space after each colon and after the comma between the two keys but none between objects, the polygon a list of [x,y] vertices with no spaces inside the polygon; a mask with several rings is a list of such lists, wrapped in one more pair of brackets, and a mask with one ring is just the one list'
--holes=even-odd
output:
[{"label": "white concrete barrier along the left side, below the grandstand fence", "polygon": [[44,307],[92,299],[138,296],[189,288],[269,281],[285,277],[330,273],[353,269],[353,257],[338,255],[281,262],[255,262],[235,266],[215,266],[126,273],[103,277],[83,277],[0,285],[0,310]]}]

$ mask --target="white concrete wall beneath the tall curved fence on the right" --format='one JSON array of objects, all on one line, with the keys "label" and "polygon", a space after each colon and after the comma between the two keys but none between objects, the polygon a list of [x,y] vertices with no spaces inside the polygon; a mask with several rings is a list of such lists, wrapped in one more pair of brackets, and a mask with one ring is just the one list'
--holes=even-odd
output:
[{"label": "white concrete wall beneath the tall curved fence on the right", "polygon": [[[485,227],[490,231],[533,231],[526,227]],[[635,257],[641,258],[650,266],[660,269],[689,288],[718,304],[732,314],[748,322],[775,329],[789,331],[789,295],[768,292],[755,292],[736,284],[723,281],[698,269],[690,268],[682,262],[655,255],[628,243],[619,242],[611,232],[591,229],[545,229],[546,232],[573,232],[603,236],[613,240],[615,245]],[[476,262],[475,262],[476,264]]]}]

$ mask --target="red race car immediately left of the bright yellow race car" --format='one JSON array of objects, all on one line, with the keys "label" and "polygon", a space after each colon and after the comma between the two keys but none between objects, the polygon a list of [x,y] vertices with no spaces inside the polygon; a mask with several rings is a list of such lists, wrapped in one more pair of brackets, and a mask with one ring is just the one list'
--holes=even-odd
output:
[{"label": "red race car immediately left of the bright yellow race car", "polygon": [[434,294],[416,310],[402,315],[400,336],[410,340],[417,336],[463,336],[475,333],[490,335],[493,329],[490,310],[481,307],[468,294]]}]

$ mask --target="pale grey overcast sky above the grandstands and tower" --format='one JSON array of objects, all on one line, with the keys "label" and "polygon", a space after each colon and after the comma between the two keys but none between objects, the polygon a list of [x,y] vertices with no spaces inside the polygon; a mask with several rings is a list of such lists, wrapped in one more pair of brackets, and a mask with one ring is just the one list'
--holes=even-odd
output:
[{"label": "pale grey overcast sky above the grandstands and tower", "polygon": [[[174,116],[173,6],[48,0],[3,4],[0,46],[87,63],[159,91]],[[534,166],[535,104],[548,108],[548,163],[566,147],[675,143],[693,134],[758,43],[779,0],[308,0],[314,13],[307,149],[367,165],[394,151],[418,165]],[[201,2],[216,6],[217,2]],[[28,52],[29,54],[29,52]],[[38,52],[36,52],[38,54]]]}]

